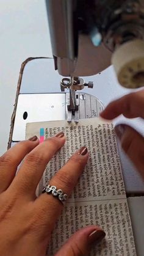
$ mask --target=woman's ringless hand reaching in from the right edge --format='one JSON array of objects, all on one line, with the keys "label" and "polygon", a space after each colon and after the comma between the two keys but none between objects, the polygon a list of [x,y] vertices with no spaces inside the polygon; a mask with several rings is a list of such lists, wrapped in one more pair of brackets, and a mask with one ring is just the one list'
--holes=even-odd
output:
[{"label": "woman's ringless hand reaching in from the right edge", "polygon": [[[112,120],[118,115],[132,119],[142,117],[144,119],[144,90],[130,93],[110,103],[101,113],[104,119]],[[115,127],[117,136],[121,141],[121,147],[134,163],[137,170],[144,178],[144,138],[128,125]]]}]

